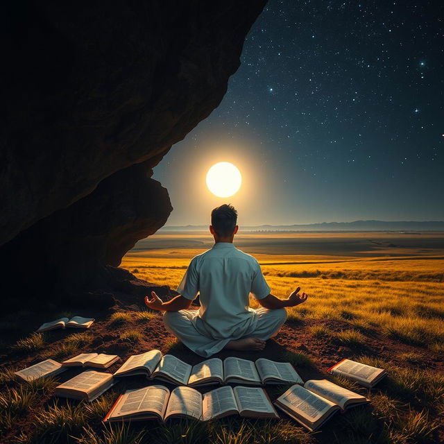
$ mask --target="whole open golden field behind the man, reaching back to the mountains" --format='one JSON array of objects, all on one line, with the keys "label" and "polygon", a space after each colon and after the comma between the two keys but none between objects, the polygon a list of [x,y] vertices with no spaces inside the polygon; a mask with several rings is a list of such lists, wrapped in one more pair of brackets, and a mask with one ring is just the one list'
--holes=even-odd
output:
[{"label": "whole open golden field behind the man, reaching back to the mountains", "polygon": [[[257,258],[275,296],[298,286],[309,294],[290,318],[347,319],[357,330],[382,327],[401,342],[444,351],[442,234],[260,233],[241,234],[235,244]],[[211,246],[203,233],[157,234],[121,266],[175,289],[191,258]]]}]

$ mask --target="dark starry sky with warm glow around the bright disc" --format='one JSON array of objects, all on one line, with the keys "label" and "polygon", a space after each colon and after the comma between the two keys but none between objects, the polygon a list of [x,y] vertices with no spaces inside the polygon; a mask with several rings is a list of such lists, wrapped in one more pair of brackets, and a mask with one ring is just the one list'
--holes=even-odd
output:
[{"label": "dark starry sky with warm glow around the bright disc", "polygon": [[[443,4],[270,0],[219,108],[155,167],[167,225],[221,203],[245,225],[444,220]],[[225,199],[221,161],[243,175]]]}]

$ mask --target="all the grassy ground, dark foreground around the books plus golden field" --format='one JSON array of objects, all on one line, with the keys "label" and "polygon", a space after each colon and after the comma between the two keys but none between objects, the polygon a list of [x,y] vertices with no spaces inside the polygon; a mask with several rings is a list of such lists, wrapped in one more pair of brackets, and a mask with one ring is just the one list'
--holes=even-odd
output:
[{"label": "all the grassy ground, dark foreground around the books plus golden field", "polygon": [[[189,239],[194,237],[180,239],[188,243],[184,243],[183,248],[176,248],[180,242],[172,237],[155,239],[156,248],[135,250],[124,258],[122,265],[139,278],[174,288],[191,257],[211,246],[210,241],[205,241],[197,248],[189,244]],[[33,383],[14,380],[12,370],[48,357],[62,360],[87,350],[115,352],[125,357],[146,351],[146,348],[160,348],[162,352],[173,352],[194,364],[191,354],[164,331],[158,314],[118,311],[98,319],[94,332],[33,334],[33,329],[26,322],[21,323],[21,337],[3,344],[1,355],[0,442],[442,442],[443,251],[424,248],[418,242],[412,244],[411,239],[410,244],[406,241],[409,245],[406,247],[402,237],[398,237],[395,241],[373,239],[365,244],[365,248],[370,250],[362,253],[359,250],[364,248],[361,238],[350,234],[343,242],[358,239],[356,251],[345,246],[341,252],[341,247],[335,244],[335,254],[312,254],[308,247],[305,247],[305,254],[298,254],[297,248],[293,254],[287,246],[285,254],[279,255],[275,250],[280,244],[279,239],[271,239],[272,247],[268,253],[264,236],[261,239],[258,242],[257,237],[244,237],[241,248],[255,255],[262,264],[273,293],[284,297],[300,286],[310,295],[304,305],[289,309],[289,321],[276,339],[274,348],[273,344],[267,345],[267,348],[273,348],[271,355],[276,360],[291,361],[303,379],[325,377],[325,368],[340,357],[386,368],[388,377],[371,391],[345,379],[334,379],[338,384],[367,395],[371,400],[369,405],[335,416],[316,434],[307,433],[296,422],[286,418],[265,422],[231,417],[209,423],[182,420],[167,424],[149,422],[110,427],[103,425],[101,419],[118,393],[124,391],[126,382],[121,382],[88,404],[53,398],[53,388],[59,382],[57,378]],[[286,239],[291,244],[291,236],[286,235]],[[301,239],[298,237],[298,242]],[[319,234],[318,239],[327,238]],[[162,248],[162,242],[169,244]],[[252,304],[255,302],[252,301]],[[24,319],[26,316],[32,318],[33,314],[17,316]],[[11,327],[17,328],[15,319],[0,319],[0,330],[6,331]],[[143,381],[140,383],[143,384]],[[284,389],[272,387],[268,393],[271,398],[276,398]]]}]

